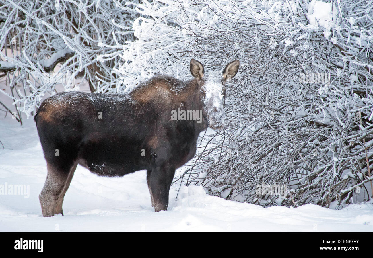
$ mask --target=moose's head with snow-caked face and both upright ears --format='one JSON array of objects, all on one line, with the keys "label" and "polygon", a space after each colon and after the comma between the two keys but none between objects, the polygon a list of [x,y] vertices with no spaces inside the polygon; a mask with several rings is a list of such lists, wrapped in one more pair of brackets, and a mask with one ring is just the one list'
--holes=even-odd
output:
[{"label": "moose's head with snow-caked face and both upright ears", "polygon": [[201,86],[201,100],[203,101],[203,115],[214,130],[225,126],[225,82],[232,79],[239,68],[239,61],[234,60],[225,66],[222,72],[204,72],[203,65],[195,59],[190,60],[190,72]]}]

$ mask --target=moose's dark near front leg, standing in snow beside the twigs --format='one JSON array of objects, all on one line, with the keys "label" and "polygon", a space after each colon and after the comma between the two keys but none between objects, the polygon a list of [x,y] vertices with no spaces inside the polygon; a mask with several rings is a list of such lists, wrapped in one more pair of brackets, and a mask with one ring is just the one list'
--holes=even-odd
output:
[{"label": "moose's dark near front leg, standing in snow beside the twigs", "polygon": [[154,211],[166,211],[168,206],[168,195],[175,167],[167,163],[157,164],[151,170],[150,191],[153,196]]}]

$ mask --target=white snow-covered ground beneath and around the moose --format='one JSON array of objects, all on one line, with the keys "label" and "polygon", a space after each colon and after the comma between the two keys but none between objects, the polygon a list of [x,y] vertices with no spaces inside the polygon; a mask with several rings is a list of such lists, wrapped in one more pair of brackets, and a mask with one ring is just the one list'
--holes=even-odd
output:
[{"label": "white snow-covered ground beneath and around the moose", "polygon": [[24,122],[0,119],[0,187],[29,185],[28,198],[0,195],[0,232],[373,232],[372,203],[262,208],[207,195],[200,186],[182,186],[176,200],[173,185],[169,210],[155,213],[145,171],[106,178],[83,167],[66,193],[65,215],[43,218],[38,194],[46,162],[34,122]]}]

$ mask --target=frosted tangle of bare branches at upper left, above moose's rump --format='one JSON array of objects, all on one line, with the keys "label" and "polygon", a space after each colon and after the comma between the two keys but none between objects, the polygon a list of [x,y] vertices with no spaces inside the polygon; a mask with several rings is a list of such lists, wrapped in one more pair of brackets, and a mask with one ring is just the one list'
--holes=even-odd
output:
[{"label": "frosted tangle of bare branches at upper left, above moose's rump", "polygon": [[[79,90],[76,77],[86,79],[92,92],[114,91],[120,75],[112,70],[122,62],[122,45],[134,39],[136,3],[0,0],[0,73],[7,76],[11,93],[1,92],[16,110],[3,107],[18,120],[20,111],[29,116],[56,84]],[[112,59],[98,62],[102,54]]]}]

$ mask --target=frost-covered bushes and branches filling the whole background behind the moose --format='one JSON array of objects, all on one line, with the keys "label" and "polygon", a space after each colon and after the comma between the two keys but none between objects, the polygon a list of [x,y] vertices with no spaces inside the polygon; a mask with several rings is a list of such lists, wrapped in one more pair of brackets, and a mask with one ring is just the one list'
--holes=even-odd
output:
[{"label": "frost-covered bushes and branches filling the whole background behind the moose", "polygon": [[0,45],[0,108],[20,123],[56,85],[127,93],[159,72],[190,79],[191,58],[239,59],[227,128],[175,181],[262,206],[372,196],[372,0],[0,0]]}]

